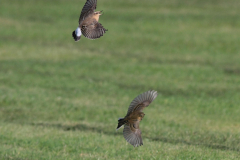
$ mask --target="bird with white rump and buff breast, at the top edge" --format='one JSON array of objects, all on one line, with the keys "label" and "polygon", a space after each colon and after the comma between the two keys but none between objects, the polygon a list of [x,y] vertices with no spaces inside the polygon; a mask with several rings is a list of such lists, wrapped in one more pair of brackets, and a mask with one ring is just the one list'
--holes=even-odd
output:
[{"label": "bird with white rump and buff breast, at the top edge", "polygon": [[87,0],[83,6],[79,17],[79,26],[72,32],[73,39],[77,42],[83,34],[86,38],[97,39],[106,33],[101,23],[98,22],[103,11],[95,11],[97,7],[97,0]]}]

